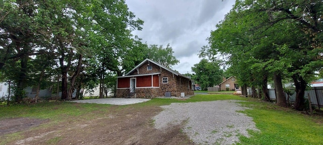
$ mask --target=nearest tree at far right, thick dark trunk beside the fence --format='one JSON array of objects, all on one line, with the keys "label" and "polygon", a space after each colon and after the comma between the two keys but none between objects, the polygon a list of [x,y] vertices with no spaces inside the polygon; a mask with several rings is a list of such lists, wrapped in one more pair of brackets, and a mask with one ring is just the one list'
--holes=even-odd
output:
[{"label": "nearest tree at far right, thick dark trunk beside the fence", "polygon": [[[292,33],[287,33],[288,37],[300,38],[301,41],[295,43],[296,45],[280,45],[284,51],[280,51],[285,57],[285,64],[292,66],[288,68],[288,74],[293,78],[296,86],[296,101],[295,109],[304,109],[304,91],[306,85],[311,82],[313,78],[309,77],[314,74],[314,71],[319,70],[322,66],[322,1],[245,1],[240,5],[242,8],[249,8],[250,13],[265,13],[270,19],[261,27],[273,27],[275,25],[285,24],[293,28]],[[287,28],[290,28],[287,27]],[[297,32],[297,33],[295,33]],[[296,34],[296,35],[295,35]],[[286,36],[286,35],[282,35]],[[297,42],[296,41],[296,42]],[[278,48],[279,48],[278,47]],[[281,49],[283,50],[283,49]],[[286,51],[287,50],[287,51]],[[301,58],[300,58],[301,57]],[[299,59],[297,59],[299,58]],[[281,61],[284,62],[284,61]],[[306,77],[305,77],[306,76]]]}]

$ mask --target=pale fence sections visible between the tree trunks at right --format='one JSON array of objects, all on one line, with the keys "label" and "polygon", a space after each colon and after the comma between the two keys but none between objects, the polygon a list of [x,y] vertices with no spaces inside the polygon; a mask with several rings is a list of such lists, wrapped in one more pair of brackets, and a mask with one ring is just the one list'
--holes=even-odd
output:
[{"label": "pale fence sections visible between the tree trunks at right", "polygon": [[[294,89],[291,89],[291,91],[294,91]],[[275,89],[268,89],[269,97],[272,100],[276,100],[276,94]],[[308,99],[308,96],[310,97],[311,104],[316,105],[319,108],[323,107],[323,87],[313,87],[305,91],[304,97]],[[289,96],[285,93],[286,100],[289,100],[290,102],[294,102],[296,99],[296,92],[294,92],[293,95]]]}]

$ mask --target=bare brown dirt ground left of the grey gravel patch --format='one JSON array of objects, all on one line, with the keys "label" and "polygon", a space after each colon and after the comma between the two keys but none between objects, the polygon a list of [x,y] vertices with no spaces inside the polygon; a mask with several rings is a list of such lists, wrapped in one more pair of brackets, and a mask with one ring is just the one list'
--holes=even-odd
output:
[{"label": "bare brown dirt ground left of the grey gravel patch", "polygon": [[[166,130],[153,126],[160,107],[109,108],[105,117],[71,117],[64,122],[32,118],[0,120],[0,140],[6,144],[192,144],[181,131],[183,124]],[[93,112],[93,116],[100,111]],[[102,115],[101,115],[102,116]],[[21,131],[13,140],[8,133]],[[0,141],[1,143],[1,141]]]}]

